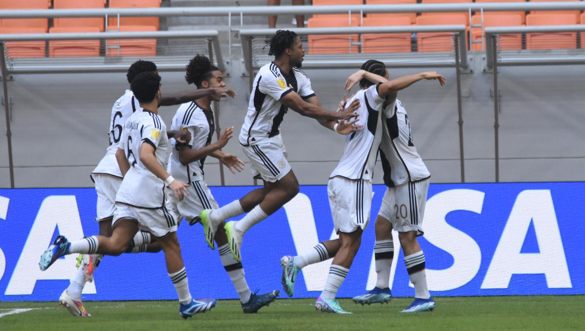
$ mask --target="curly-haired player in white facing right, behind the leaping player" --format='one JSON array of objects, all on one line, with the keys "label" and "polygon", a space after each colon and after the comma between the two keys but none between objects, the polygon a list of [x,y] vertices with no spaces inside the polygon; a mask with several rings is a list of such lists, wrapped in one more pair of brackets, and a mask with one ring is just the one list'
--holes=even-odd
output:
[{"label": "curly-haired player in white facing right, behind the leaping player", "polygon": [[[198,89],[225,88],[226,86],[223,73],[203,55],[192,58],[187,65],[185,79],[187,83],[194,84]],[[189,195],[182,201],[178,201],[176,205],[178,213],[191,225],[199,221],[201,211],[218,208],[204,180],[205,158],[207,156],[218,158],[232,172],[242,170],[244,164],[237,156],[219,150],[232,137],[233,127],[226,128],[218,141],[211,142],[216,123],[211,110],[212,101],[219,101],[219,98],[206,96],[194,102],[181,104],[171,123],[171,130],[188,130],[191,133],[188,144],[178,144],[175,140],[171,140],[173,152],[168,163],[168,172],[171,176],[189,184],[187,189]],[[209,247],[214,249],[214,242],[207,239]],[[218,228],[215,242],[218,244],[223,268],[238,292],[244,313],[255,313],[278,297],[278,290],[262,295],[256,295],[250,291],[242,263],[236,261],[229,253],[228,238],[222,227]]]}]

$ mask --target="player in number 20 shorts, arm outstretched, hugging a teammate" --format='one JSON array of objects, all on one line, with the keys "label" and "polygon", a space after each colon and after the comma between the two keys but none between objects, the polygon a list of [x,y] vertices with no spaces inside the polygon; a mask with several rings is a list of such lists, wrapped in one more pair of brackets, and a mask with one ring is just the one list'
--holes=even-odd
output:
[{"label": "player in number 20 shorts, arm outstretched, hugging a teammate", "polygon": [[[348,86],[351,88],[352,82],[364,78],[384,83],[387,76],[386,66],[378,65],[373,70],[356,72],[348,80]],[[441,85],[445,81],[445,78],[436,72],[405,76],[402,81],[404,85],[410,85],[421,79],[433,78],[439,79]],[[387,189],[376,218],[374,259],[377,281],[376,287],[366,294],[353,298],[353,301],[362,305],[390,301],[392,294],[388,283],[394,259],[392,230],[395,229],[404,251],[404,264],[415,290],[414,301],[402,312],[432,311],[435,308],[435,301],[426,285],[425,256],[417,241],[417,236],[424,234],[422,220],[431,173],[412,142],[408,114],[400,100],[395,99],[393,106],[386,107],[382,117],[384,130],[380,144],[380,159]]]}]

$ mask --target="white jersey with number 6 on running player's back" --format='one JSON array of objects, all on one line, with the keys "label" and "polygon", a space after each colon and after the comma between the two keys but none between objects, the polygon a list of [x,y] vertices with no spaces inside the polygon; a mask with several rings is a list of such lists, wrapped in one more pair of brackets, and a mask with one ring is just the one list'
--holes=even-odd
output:
[{"label": "white jersey with number 6 on running player's back", "polygon": [[116,203],[140,208],[161,208],[165,204],[163,180],[155,176],[140,162],[140,147],[150,144],[154,147],[156,161],[167,168],[168,138],[167,127],[157,114],[144,109],[132,114],[126,120],[118,148],[123,149],[130,170],[124,176]]}]

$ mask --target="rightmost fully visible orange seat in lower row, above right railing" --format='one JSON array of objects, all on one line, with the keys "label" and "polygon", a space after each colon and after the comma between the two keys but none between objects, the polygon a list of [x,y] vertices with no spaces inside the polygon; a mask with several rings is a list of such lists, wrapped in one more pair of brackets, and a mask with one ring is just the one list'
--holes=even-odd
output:
[{"label": "rightmost fully visible orange seat in lower row, above right railing", "polygon": [[[570,14],[528,14],[526,26],[573,25],[577,18]],[[560,33],[526,33],[526,49],[551,50],[559,48],[577,48],[576,32]]]}]

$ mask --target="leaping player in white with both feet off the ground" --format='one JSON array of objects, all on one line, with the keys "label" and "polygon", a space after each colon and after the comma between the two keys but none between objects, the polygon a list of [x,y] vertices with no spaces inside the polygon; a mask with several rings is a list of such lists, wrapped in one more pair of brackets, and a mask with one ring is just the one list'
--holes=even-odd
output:
[{"label": "leaping player in white with both feet off the ground", "polygon": [[[342,112],[323,109],[311,87],[311,81],[300,69],[304,57],[302,41],[296,33],[278,30],[270,40],[270,55],[274,61],[260,68],[250,93],[246,118],[240,131],[239,141],[244,154],[250,159],[254,178],[261,178],[264,187],[250,191],[243,198],[232,201],[217,210],[201,213],[206,236],[214,236],[219,224],[228,218],[248,214],[240,221],[228,222],[229,250],[241,261],[240,246],[248,229],[261,222],[298,193],[297,177],[286,158],[280,124],[288,109],[302,116],[320,120],[319,123],[333,130],[333,121],[355,117],[356,104]],[[338,133],[357,130],[356,120],[339,123]],[[211,240],[209,240],[211,241]]]}]

